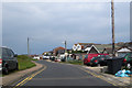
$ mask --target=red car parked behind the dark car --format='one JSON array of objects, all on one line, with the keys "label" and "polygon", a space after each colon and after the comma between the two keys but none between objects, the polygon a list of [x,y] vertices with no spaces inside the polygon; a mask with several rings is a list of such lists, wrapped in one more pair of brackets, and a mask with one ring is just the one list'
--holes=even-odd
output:
[{"label": "red car parked behind the dark car", "polygon": [[98,55],[109,55],[109,54],[87,54],[84,59],[84,65],[90,65],[90,61],[94,57],[97,57]]}]

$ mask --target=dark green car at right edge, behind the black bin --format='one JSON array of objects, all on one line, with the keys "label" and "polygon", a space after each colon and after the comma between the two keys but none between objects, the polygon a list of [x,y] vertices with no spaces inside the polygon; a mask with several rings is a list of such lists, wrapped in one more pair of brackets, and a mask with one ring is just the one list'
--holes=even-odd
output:
[{"label": "dark green car at right edge, behind the black bin", "polygon": [[132,67],[132,53],[128,53],[124,56],[123,65],[127,66],[127,67]]}]

